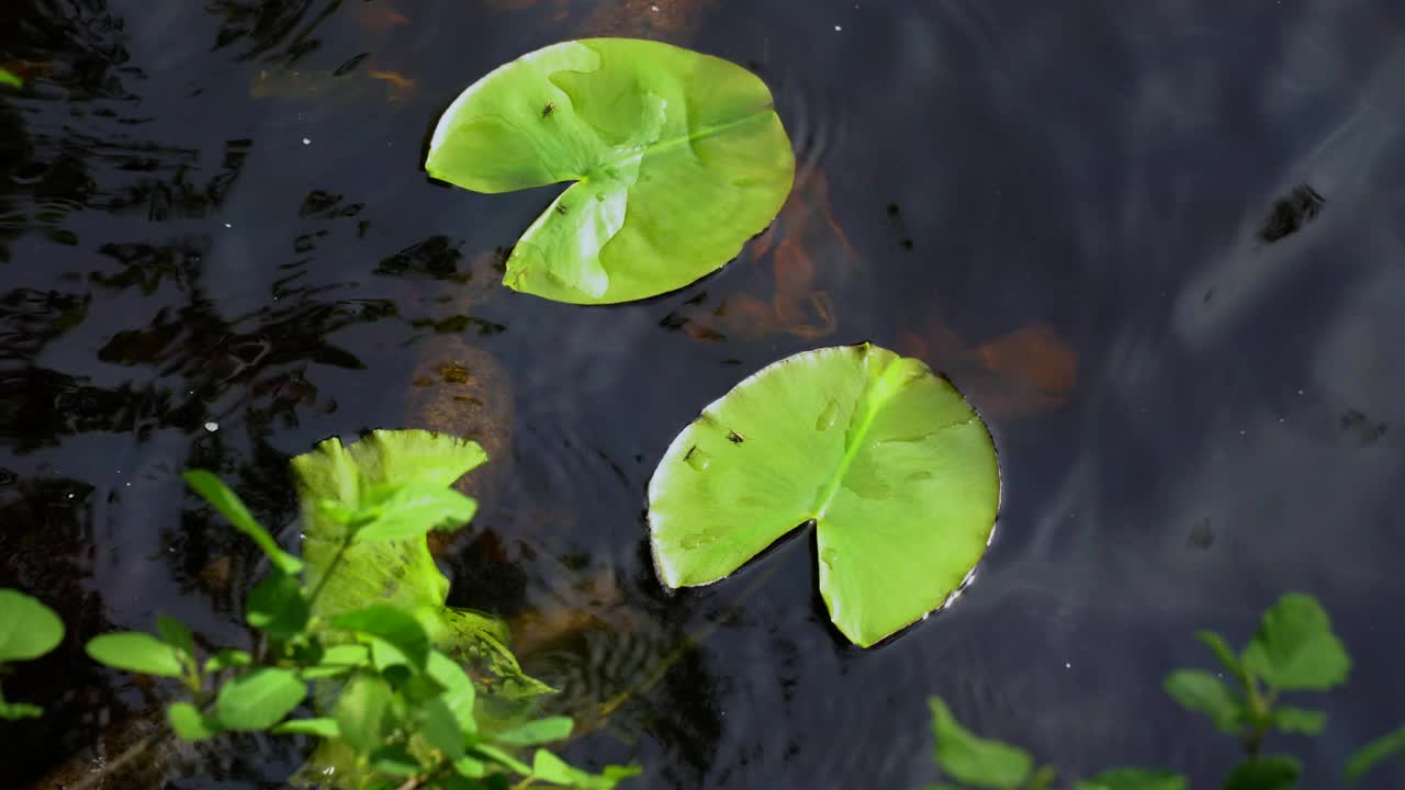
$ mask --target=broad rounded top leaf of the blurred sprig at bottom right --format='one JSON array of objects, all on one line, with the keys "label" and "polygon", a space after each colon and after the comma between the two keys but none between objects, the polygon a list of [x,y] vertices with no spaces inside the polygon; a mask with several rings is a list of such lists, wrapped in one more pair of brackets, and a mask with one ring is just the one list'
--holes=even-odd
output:
[{"label": "broad rounded top leaf of the blurred sprig at bottom right", "polygon": [[1346,682],[1352,659],[1316,599],[1288,593],[1263,614],[1243,665],[1284,692],[1325,692]]}]

